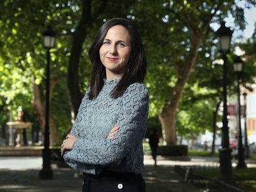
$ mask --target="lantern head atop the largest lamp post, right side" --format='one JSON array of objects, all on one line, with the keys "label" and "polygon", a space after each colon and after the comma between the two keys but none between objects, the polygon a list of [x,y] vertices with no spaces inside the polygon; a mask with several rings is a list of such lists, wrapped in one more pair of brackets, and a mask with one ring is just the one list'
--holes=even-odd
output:
[{"label": "lantern head atop the largest lamp post, right side", "polygon": [[221,22],[221,27],[215,33],[218,36],[220,51],[223,53],[229,52],[233,30],[226,27],[225,22]]}]

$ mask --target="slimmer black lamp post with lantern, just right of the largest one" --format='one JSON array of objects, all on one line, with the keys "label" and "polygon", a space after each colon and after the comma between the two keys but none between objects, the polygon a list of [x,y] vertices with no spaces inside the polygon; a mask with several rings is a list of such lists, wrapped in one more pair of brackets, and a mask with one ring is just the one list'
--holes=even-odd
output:
[{"label": "slimmer black lamp post with lantern, just right of the largest one", "polygon": [[234,71],[237,74],[237,100],[238,100],[238,126],[239,126],[239,143],[238,143],[238,164],[237,169],[247,168],[244,162],[244,148],[242,147],[242,128],[241,128],[241,104],[240,104],[240,74],[242,72],[242,59],[239,56],[234,58]]}]

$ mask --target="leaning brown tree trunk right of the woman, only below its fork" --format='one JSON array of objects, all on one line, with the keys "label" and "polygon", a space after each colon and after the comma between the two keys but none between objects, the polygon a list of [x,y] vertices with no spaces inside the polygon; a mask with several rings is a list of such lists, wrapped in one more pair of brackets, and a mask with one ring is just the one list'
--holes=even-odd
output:
[{"label": "leaning brown tree trunk right of the woman, only below its fork", "polygon": [[192,32],[190,40],[190,52],[186,57],[184,65],[180,66],[178,69],[178,78],[171,93],[171,98],[164,104],[163,109],[161,109],[158,114],[163,130],[164,144],[167,145],[176,144],[176,112],[179,107],[182,91],[184,90],[184,86],[189,79],[190,71],[197,58],[197,49],[200,46],[201,36]]}]

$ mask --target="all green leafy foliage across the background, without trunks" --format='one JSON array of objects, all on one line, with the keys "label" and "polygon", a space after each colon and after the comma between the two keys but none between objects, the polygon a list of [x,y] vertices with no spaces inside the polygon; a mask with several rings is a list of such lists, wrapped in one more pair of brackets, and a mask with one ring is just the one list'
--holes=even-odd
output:
[{"label": "all green leafy foliage across the background, without trunks", "polygon": [[[184,67],[190,51],[190,27],[202,27],[203,22],[218,9],[210,22],[219,23],[228,13],[235,18],[236,28],[244,28],[243,10],[235,1],[108,1],[98,14],[101,2],[92,2],[93,23],[87,28],[80,57],[80,91],[87,90],[90,60],[88,49],[96,31],[108,19],[126,17],[137,25],[147,52],[148,72],[145,85],[150,93],[149,129],[160,127],[158,113],[168,101],[177,80],[177,71]],[[253,1],[247,1],[251,6]],[[119,6],[116,6],[118,3]],[[66,75],[69,63],[72,33],[79,25],[82,1],[0,1],[0,121],[7,120],[7,110],[15,116],[22,106],[29,111],[30,121],[38,122],[32,107],[33,86],[43,85],[45,90],[46,49],[42,33],[46,25],[56,31],[56,46],[51,49],[51,78],[58,81],[51,101],[51,113],[63,136],[70,129],[70,109],[67,97]],[[184,14],[186,13],[186,14]],[[184,22],[189,16],[190,23]],[[200,31],[198,31],[200,33]],[[255,35],[252,40],[239,44],[245,51],[244,83],[253,82],[255,74]],[[235,44],[237,46],[237,44]],[[213,109],[221,96],[222,65],[216,49],[216,36],[209,28],[198,49],[197,62],[177,115],[177,133],[194,137],[211,129]],[[232,55],[229,55],[229,93],[234,93],[236,79]],[[220,118],[220,117],[218,117]]]}]

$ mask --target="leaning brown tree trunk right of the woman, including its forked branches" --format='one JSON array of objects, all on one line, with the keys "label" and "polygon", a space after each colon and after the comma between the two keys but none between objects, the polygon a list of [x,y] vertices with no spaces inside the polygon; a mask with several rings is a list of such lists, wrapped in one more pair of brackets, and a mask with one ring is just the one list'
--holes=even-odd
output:
[{"label": "leaning brown tree trunk right of the woman, including its forked branches", "polygon": [[[185,4],[184,4],[185,5]],[[215,9],[211,10],[211,14],[209,17],[205,18],[205,22],[197,23],[192,22],[193,15],[187,9],[186,6],[182,7],[182,15],[184,19],[182,22],[185,23],[186,27],[190,30],[190,51],[186,56],[184,61],[184,65],[179,65],[177,70],[177,81],[171,92],[171,97],[169,101],[166,102],[163,108],[160,110],[158,117],[161,122],[162,130],[163,130],[163,138],[165,144],[176,144],[176,113],[179,107],[179,101],[181,100],[182,91],[184,90],[184,86],[189,79],[189,75],[192,67],[195,64],[195,60],[197,59],[197,50],[200,46],[200,42],[203,38],[205,38],[210,31],[210,22],[211,19],[215,16],[216,12],[223,5],[223,1],[218,2],[216,4]],[[192,19],[192,20],[191,20]]]}]

